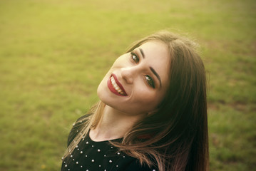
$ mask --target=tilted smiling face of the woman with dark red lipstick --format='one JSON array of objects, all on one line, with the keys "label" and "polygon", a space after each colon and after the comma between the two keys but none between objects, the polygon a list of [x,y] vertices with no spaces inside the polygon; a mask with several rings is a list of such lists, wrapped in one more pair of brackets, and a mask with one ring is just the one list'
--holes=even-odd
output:
[{"label": "tilted smiling face of the woman with dark red lipstick", "polygon": [[116,59],[98,86],[98,97],[122,113],[150,113],[163,100],[169,71],[168,47],[148,41]]}]

